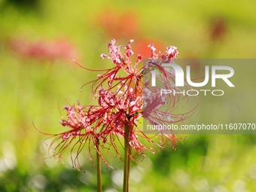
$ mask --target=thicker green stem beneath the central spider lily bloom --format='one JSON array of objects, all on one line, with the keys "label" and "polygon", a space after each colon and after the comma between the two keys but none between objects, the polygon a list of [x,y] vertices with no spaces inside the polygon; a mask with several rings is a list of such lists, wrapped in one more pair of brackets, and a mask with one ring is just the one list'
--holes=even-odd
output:
[{"label": "thicker green stem beneath the central spider lily bloom", "polygon": [[126,124],[125,139],[124,139],[123,192],[129,191],[129,175],[130,175],[129,134],[130,134],[130,127],[128,124]]}]

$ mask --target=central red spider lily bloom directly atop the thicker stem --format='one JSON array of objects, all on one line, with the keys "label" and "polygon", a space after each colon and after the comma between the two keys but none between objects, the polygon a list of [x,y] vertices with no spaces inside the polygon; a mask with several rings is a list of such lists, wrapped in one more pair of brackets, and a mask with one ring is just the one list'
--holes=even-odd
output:
[{"label": "central red spider lily bloom directly atop the thicker stem", "polygon": [[[109,136],[111,141],[112,138],[116,138],[116,136],[125,139],[124,127],[128,125],[130,127],[129,145],[130,148],[133,148],[135,151],[134,154],[129,154],[130,157],[136,162],[134,157],[139,154],[145,156],[145,150],[151,151],[151,148],[146,147],[139,142],[137,133],[133,129],[133,126],[136,126],[139,117],[142,117],[142,97],[136,96],[136,92],[133,88],[128,89],[127,86],[124,86],[123,91],[120,90],[120,87],[117,87],[117,93],[114,95],[109,93],[109,91],[100,90],[99,98],[100,105],[111,105],[115,107],[111,113],[108,113],[108,116],[105,119],[105,130],[102,130],[100,136],[103,136],[104,138]],[[148,137],[145,138],[148,139]],[[120,142],[120,139],[117,140]],[[148,139],[148,141],[152,144],[150,139]],[[113,147],[114,146],[113,143]],[[118,156],[120,155],[118,154]]]}]

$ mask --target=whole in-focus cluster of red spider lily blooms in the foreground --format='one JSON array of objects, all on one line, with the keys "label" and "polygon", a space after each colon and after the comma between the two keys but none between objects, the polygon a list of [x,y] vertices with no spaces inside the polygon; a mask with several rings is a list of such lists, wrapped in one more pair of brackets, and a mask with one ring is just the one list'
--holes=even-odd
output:
[{"label": "whole in-focus cluster of red spider lily blooms in the foreground", "polygon": [[[124,54],[120,52],[120,45],[115,45],[115,40],[108,44],[108,55],[102,54],[101,57],[111,59],[114,67],[106,69],[102,75],[98,75],[93,84],[93,95],[98,99],[98,105],[78,105],[65,106],[67,112],[66,119],[62,119],[62,126],[68,126],[69,130],[64,133],[54,134],[50,148],[53,148],[55,157],[60,157],[69,145],[73,144],[72,151],[78,148],[75,158],[72,157],[76,167],[81,167],[78,161],[78,155],[85,146],[89,148],[90,160],[93,161],[91,151],[95,148],[96,152],[102,158],[106,166],[109,166],[103,157],[101,150],[104,148],[112,149],[121,158],[115,142],[120,139],[126,139],[125,127],[129,127],[129,156],[136,162],[136,157],[142,154],[145,157],[145,151],[152,153],[158,148],[170,146],[176,148],[178,141],[184,139],[182,136],[176,136],[172,131],[163,132],[159,130],[156,136],[149,137],[139,128],[140,117],[144,117],[152,124],[176,123],[188,117],[190,112],[182,115],[175,115],[171,112],[178,102],[174,96],[160,96],[155,90],[148,89],[148,81],[142,81],[145,74],[153,69],[159,70],[162,74],[157,78],[169,89],[177,89],[174,85],[175,76],[172,70],[167,70],[161,66],[163,62],[172,62],[177,56],[176,47],[167,47],[165,53],[156,53],[156,49],[151,44],[151,58],[146,66],[139,68],[139,62],[142,56],[138,55],[135,64],[132,64],[133,50],[131,43],[126,45]],[[125,72],[125,75],[119,73]],[[102,70],[104,71],[104,70]],[[105,84],[106,83],[106,84]],[[103,85],[107,88],[103,88]],[[143,93],[143,94],[142,94]],[[160,108],[169,102],[169,111],[161,111]],[[157,138],[158,141],[154,141]],[[140,142],[145,139],[148,145]],[[58,144],[55,144],[55,143]],[[75,142],[75,144],[74,144]],[[121,142],[120,142],[121,144]],[[111,167],[111,166],[110,166]]]}]

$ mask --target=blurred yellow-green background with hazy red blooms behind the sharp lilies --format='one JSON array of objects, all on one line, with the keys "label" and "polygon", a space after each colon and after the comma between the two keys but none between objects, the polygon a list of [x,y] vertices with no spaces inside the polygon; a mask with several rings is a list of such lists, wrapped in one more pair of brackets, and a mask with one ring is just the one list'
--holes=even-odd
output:
[{"label": "blurred yellow-green background with hazy red blooms behind the sharp lilies", "polygon": [[[75,65],[70,54],[81,66],[108,69],[111,62],[100,54],[108,53],[115,38],[123,45],[134,39],[134,52],[145,58],[151,43],[162,51],[170,44],[178,47],[178,58],[255,58],[255,8],[254,0],[0,0],[0,191],[96,191],[96,168],[87,151],[80,160],[84,172],[72,168],[69,151],[65,164],[57,163],[47,158],[50,140],[46,145],[47,136],[32,125],[61,133],[63,105],[96,102],[90,86],[80,88],[98,73]],[[226,105],[252,102],[240,99]],[[186,123],[207,118],[204,109],[215,122],[221,113],[231,118],[233,111],[221,110],[225,102],[199,105]],[[253,108],[242,113],[254,117]],[[166,148],[133,164],[130,191],[255,191],[255,137],[189,135],[176,151]],[[117,170],[102,165],[103,190],[120,191],[123,163],[106,158]]]}]

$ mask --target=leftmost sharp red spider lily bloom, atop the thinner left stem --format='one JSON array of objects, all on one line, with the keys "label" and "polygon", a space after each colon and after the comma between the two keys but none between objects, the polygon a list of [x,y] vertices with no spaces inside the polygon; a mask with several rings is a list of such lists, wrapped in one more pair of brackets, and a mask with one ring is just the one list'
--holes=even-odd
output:
[{"label": "leftmost sharp red spider lily bloom, atop the thinner left stem", "polygon": [[[68,126],[71,130],[58,134],[44,134],[55,137],[50,143],[49,150],[53,149],[53,157],[56,157],[58,160],[69,145],[73,145],[71,152],[75,150],[75,147],[78,147],[75,158],[71,158],[73,165],[79,169],[81,165],[78,161],[78,155],[86,144],[88,144],[90,160],[92,160],[93,163],[91,151],[93,148],[96,148],[96,146],[99,146],[100,138],[97,132],[99,132],[99,128],[102,124],[100,120],[104,115],[104,109],[102,110],[102,108],[97,105],[81,107],[79,102],[77,107],[74,105],[70,107],[65,106],[63,108],[67,111],[67,120],[61,120],[60,123],[62,126]],[[96,151],[103,162],[109,166],[98,148],[96,148]]]}]

